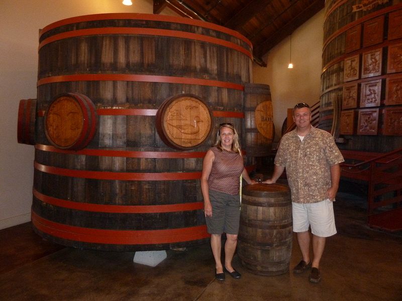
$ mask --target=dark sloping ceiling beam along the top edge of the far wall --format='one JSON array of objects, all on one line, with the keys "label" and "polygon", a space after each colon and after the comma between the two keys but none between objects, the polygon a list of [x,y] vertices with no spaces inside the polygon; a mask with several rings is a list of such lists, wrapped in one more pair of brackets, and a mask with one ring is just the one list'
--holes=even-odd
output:
[{"label": "dark sloping ceiling beam along the top edge of the far wall", "polygon": [[275,34],[270,36],[264,42],[259,43],[259,45],[254,46],[254,53],[257,57],[262,57],[279,42],[285,39],[287,36],[291,35],[299,26],[304,24],[307,20],[312,18],[315,14],[320,12],[324,8],[325,2],[322,0],[316,0],[305,10],[300,12],[296,17],[287,22],[283,27],[280,28]]}]

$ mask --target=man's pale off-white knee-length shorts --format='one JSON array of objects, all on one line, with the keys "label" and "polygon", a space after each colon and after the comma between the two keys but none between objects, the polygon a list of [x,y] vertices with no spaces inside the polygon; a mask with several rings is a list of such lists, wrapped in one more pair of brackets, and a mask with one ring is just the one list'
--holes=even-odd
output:
[{"label": "man's pale off-white knee-length shorts", "polygon": [[318,203],[298,204],[292,202],[293,232],[311,233],[320,237],[336,234],[334,206],[329,199]]}]

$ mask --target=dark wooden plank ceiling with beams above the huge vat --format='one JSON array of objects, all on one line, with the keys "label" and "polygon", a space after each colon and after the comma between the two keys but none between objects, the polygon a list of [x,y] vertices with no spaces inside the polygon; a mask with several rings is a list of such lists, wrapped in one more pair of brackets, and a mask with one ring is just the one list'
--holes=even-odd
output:
[{"label": "dark wooden plank ceiling with beams above the huge vat", "polygon": [[154,0],[154,14],[169,7],[182,17],[241,33],[253,44],[254,61],[324,8],[325,0]]}]

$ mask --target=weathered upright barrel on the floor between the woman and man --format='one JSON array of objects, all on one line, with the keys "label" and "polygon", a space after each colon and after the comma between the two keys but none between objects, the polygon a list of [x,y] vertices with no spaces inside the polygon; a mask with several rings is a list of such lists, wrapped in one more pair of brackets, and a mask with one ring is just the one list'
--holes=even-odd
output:
[{"label": "weathered upright barrel on the floor between the woman and man", "polygon": [[258,275],[289,271],[292,249],[290,190],[283,184],[248,185],[242,190],[237,254]]}]

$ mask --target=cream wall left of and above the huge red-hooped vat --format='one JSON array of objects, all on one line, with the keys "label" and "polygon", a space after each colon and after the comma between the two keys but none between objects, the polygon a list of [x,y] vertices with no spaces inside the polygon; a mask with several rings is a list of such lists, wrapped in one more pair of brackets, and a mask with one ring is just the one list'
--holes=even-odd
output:
[{"label": "cream wall left of and above the huge red-hooped vat", "polygon": [[17,143],[17,115],[20,99],[36,98],[39,29],[81,15],[152,11],[152,0],[0,0],[0,229],[31,219],[34,146]]}]

